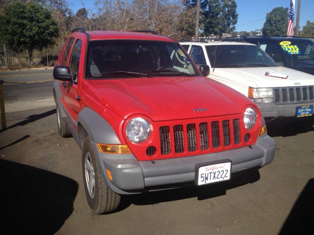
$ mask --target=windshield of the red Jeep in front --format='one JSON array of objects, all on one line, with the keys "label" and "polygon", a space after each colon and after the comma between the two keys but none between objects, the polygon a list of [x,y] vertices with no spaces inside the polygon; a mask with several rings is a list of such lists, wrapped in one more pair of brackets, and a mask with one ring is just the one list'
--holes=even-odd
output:
[{"label": "windshield of the red Jeep in front", "polygon": [[86,78],[196,76],[178,44],[143,40],[101,40],[89,43]]}]

